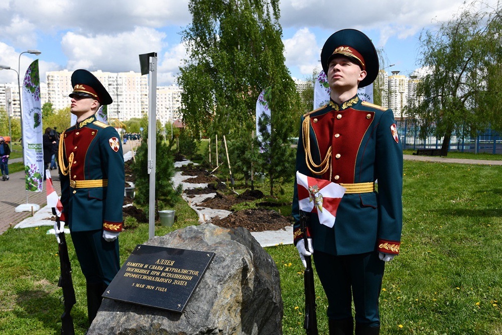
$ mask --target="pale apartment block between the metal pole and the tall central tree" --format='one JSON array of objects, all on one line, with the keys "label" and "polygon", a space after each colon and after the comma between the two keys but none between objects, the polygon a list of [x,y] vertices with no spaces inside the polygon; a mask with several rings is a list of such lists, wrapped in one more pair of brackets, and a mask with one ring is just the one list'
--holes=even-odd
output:
[{"label": "pale apartment block between the metal pole and the tall central tree", "polygon": [[181,92],[176,85],[157,87],[157,120],[162,126],[182,118]]}]

